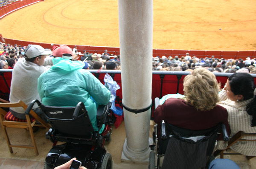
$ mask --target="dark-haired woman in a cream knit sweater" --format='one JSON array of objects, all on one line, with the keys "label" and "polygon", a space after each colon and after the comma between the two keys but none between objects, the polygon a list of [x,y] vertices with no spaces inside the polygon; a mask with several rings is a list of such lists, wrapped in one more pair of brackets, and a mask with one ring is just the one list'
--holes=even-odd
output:
[{"label": "dark-haired woman in a cream knit sweater", "polygon": [[[256,133],[256,96],[255,82],[249,73],[233,73],[227,84],[219,93],[221,102],[228,112],[231,135],[239,131]],[[253,140],[255,137],[244,139]],[[218,149],[225,149],[226,143],[219,141]],[[230,147],[236,152],[247,156],[256,156],[255,141],[239,141]]]}]

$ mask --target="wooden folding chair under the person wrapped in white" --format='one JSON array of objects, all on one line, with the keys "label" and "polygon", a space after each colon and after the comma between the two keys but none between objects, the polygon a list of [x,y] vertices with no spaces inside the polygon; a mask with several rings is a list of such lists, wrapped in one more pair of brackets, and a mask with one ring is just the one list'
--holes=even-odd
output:
[{"label": "wooden folding chair under the person wrapped in white", "polygon": [[[23,107],[24,111],[27,108],[27,105],[19,100],[17,103],[0,103],[0,107]],[[29,115],[25,113],[26,120],[21,120],[19,118],[16,118],[13,116],[10,112],[6,112],[2,108],[0,108],[0,120],[1,120],[1,126],[3,128],[3,132],[6,138],[6,142],[9,147],[9,151],[12,153],[12,147],[20,147],[20,148],[29,148],[29,149],[35,149],[35,154],[38,155],[38,149],[35,143],[35,137],[32,130],[33,126],[39,126],[39,127],[46,127],[50,128],[50,125],[47,124],[44,120],[42,120],[33,110],[29,112],[30,115],[32,115],[33,118],[29,118]],[[36,124],[36,121],[39,121],[41,124]],[[30,145],[15,145],[11,144],[9,140],[9,136],[6,131],[6,127],[12,127],[12,128],[21,128],[21,129],[27,129],[29,130],[33,146]]]}]

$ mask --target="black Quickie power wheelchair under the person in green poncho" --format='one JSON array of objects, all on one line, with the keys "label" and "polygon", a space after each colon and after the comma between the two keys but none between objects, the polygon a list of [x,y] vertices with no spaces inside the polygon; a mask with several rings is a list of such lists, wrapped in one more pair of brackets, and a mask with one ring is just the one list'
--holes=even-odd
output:
[{"label": "black Quickie power wheelchair under the person in green poncho", "polygon": [[[26,112],[35,103],[52,126],[45,135],[53,146],[45,159],[44,169],[54,169],[74,157],[87,169],[112,169],[112,156],[104,147],[105,141],[111,141],[111,103],[99,105],[97,109],[98,131],[93,130],[83,102],[79,102],[76,107],[55,107],[33,100]],[[104,131],[100,133],[103,125]],[[57,145],[58,141],[65,143]]]}]

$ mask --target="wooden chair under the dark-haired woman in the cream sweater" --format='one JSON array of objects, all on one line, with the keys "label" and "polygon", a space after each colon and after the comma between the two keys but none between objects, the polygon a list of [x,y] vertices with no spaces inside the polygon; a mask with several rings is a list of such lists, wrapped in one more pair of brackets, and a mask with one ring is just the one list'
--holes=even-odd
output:
[{"label": "wooden chair under the dark-haired woman in the cream sweater", "polygon": [[[218,149],[214,152],[214,156],[218,156],[220,155],[221,158],[224,158],[224,155],[241,155],[240,153],[229,153],[229,152],[225,152],[227,149],[230,148],[230,146],[232,146],[233,144],[235,144],[237,141],[256,141],[256,139],[254,140],[248,140],[248,139],[243,139],[244,137],[247,136],[254,136],[256,138],[256,133],[245,133],[242,131],[237,132],[232,138],[230,138],[230,141],[228,142],[227,148],[226,149]],[[254,158],[255,156],[246,156],[246,158],[248,160],[250,160],[251,158]]]}]

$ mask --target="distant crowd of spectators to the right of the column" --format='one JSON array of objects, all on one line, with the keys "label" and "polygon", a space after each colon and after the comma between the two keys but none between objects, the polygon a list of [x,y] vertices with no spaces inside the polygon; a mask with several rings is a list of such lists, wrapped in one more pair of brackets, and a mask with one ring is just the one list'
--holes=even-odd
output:
[{"label": "distant crowd of spectators to the right of the column", "polygon": [[211,72],[220,73],[256,73],[256,59],[246,60],[239,59],[218,59],[212,56],[211,58],[198,58],[196,56],[159,56],[153,58],[153,70],[170,70],[170,71],[192,71],[195,68],[206,68]]}]

